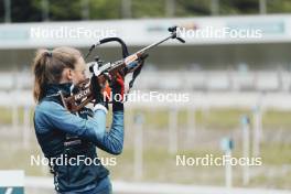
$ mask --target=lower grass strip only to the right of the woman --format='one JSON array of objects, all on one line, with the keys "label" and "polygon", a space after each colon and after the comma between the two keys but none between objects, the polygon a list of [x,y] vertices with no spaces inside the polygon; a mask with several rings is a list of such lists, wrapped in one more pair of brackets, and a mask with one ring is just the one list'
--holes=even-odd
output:
[{"label": "lower grass strip only to the right of the woman", "polygon": [[[260,170],[250,179],[250,187],[273,187],[290,190],[291,170],[285,174],[274,174],[268,176],[266,173],[274,169],[277,172],[283,171],[281,168],[291,163],[291,144],[262,144],[261,166],[251,166],[250,171]],[[213,150],[193,149],[179,152],[180,155],[187,158],[200,158],[206,154],[213,154],[214,158],[222,157],[223,152],[214,148]],[[106,154],[105,154],[106,155]],[[235,158],[241,157],[240,150],[234,151]],[[111,175],[116,180],[134,181],[133,177],[133,150],[127,149],[118,157],[118,166],[110,168]],[[234,166],[234,185],[242,185],[242,168]],[[224,185],[224,166],[176,166],[175,154],[170,154],[163,149],[147,149],[143,153],[143,179],[140,181],[150,182],[170,182],[182,184],[202,184],[202,185]]]}]

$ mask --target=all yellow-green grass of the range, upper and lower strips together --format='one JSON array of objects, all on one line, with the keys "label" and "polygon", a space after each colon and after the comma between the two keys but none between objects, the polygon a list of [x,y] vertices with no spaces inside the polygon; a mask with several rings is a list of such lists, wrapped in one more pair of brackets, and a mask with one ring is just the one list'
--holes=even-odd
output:
[{"label": "all yellow-green grass of the range, upper and lower strips together", "polygon": [[[0,123],[10,125],[12,121],[12,111],[3,107],[0,108],[0,111],[3,112],[0,115]],[[30,110],[30,114],[32,116],[33,111]],[[133,120],[129,119],[129,115],[134,116],[137,114],[142,114],[144,116],[146,127],[155,129],[157,132],[161,132],[161,130],[166,129],[169,126],[169,111],[166,109],[155,109],[154,111],[149,109],[129,109],[126,111],[127,125],[133,123]],[[177,112],[177,125],[180,128],[187,127],[187,114],[188,112],[185,109]],[[195,111],[195,116],[193,114],[192,119],[195,119],[197,130],[200,128],[205,130],[215,129],[220,131],[222,134],[225,134],[226,132],[231,133],[240,127],[240,118],[242,115],[251,116],[251,114],[252,111],[248,109],[198,109]],[[269,128],[273,134],[276,134],[277,129],[290,130],[290,114],[291,111],[281,110],[268,110],[263,112],[263,129]],[[110,117],[110,115],[108,117]],[[23,108],[19,108],[19,123],[21,125],[22,121]],[[252,121],[252,118],[250,121]],[[108,119],[107,123],[109,126],[110,119]],[[288,133],[288,131],[285,133]],[[34,137],[33,132],[31,136]],[[128,136],[131,136],[131,133],[127,133],[127,137]],[[164,138],[166,139],[168,137]],[[180,139],[179,141],[182,140]],[[170,154],[166,150],[166,146],[155,147],[159,142],[147,142],[150,147],[144,147],[143,151],[143,176],[141,180],[137,180],[134,177],[133,146],[127,141],[125,143],[126,147],[122,154],[117,157],[117,165],[108,166],[114,180],[224,185],[223,166],[176,166],[175,154]],[[251,176],[249,186],[290,190],[291,142],[263,142],[260,148],[262,166],[250,169],[251,172],[256,171],[257,173]],[[30,165],[30,155],[41,153],[35,138],[32,139],[31,147],[25,149],[21,144],[21,134],[10,136],[8,138],[0,137],[0,169],[23,169],[25,170],[26,175],[48,175],[48,168]],[[98,153],[100,157],[112,157],[103,151],[98,151]],[[190,147],[185,150],[181,150],[179,154],[195,158],[205,157],[206,154],[220,157],[223,152],[220,151],[218,144],[213,144],[212,148]],[[241,148],[239,146],[235,147],[233,155],[236,158],[241,157]],[[241,166],[234,168],[235,186],[242,186],[241,171]]]}]

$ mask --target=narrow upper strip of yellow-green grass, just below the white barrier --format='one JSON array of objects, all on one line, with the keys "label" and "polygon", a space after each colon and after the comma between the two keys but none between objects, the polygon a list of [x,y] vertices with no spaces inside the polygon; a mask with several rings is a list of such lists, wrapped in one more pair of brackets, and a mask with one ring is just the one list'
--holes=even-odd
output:
[{"label": "narrow upper strip of yellow-green grass, just below the white barrier", "polygon": [[[19,109],[19,125],[23,123],[24,110],[22,107]],[[12,123],[12,109],[0,107],[0,123]],[[144,125],[147,128],[154,129],[168,129],[169,127],[169,110],[168,109],[129,109],[126,111],[126,117],[129,115],[137,116],[142,115]],[[233,130],[240,128],[240,119],[247,115],[252,122],[252,111],[249,109],[197,109],[195,112],[191,112],[191,119],[197,128],[203,129],[217,129],[217,130]],[[283,129],[289,130],[291,126],[290,119],[291,111],[270,109],[262,115],[262,127],[267,129]],[[109,116],[110,117],[110,116]],[[30,109],[30,118],[32,123],[33,109]],[[129,120],[131,123],[134,120]],[[108,120],[108,125],[110,119]],[[177,126],[180,128],[187,128],[188,111],[185,109],[177,111]]]}]

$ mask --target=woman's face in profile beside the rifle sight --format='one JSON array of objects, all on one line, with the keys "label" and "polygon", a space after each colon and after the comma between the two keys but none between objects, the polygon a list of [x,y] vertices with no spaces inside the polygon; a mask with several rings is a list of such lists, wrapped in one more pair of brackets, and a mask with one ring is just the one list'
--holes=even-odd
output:
[{"label": "woman's face in profile beside the rifle sight", "polygon": [[71,69],[71,80],[74,85],[77,85],[86,79],[85,71],[86,63],[83,57],[79,57],[77,63],[75,64],[75,68]]}]

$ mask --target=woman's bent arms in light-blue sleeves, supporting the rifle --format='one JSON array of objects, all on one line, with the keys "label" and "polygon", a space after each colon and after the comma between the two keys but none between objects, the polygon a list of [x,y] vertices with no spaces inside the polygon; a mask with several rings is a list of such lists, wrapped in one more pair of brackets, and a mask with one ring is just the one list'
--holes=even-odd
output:
[{"label": "woman's bent arms in light-blue sleeves, supporting the rifle", "polygon": [[[106,112],[97,109],[88,120],[71,114],[54,101],[43,101],[35,109],[39,132],[48,128],[88,139],[100,149],[119,154],[123,148],[123,111],[114,111],[111,129],[106,131]],[[47,128],[48,127],[48,128]]]}]

